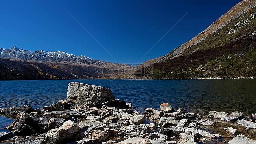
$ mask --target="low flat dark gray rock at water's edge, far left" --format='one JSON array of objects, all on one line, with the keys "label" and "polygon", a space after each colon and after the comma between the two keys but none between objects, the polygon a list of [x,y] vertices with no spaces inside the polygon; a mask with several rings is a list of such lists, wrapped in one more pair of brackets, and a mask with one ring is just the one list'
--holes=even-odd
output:
[{"label": "low flat dark gray rock at water's edge, far left", "polygon": [[5,108],[5,109],[0,109],[0,113],[2,113],[2,114],[16,115],[20,112],[31,113],[31,112],[34,112],[34,109],[32,109],[32,107],[30,105],[24,105],[24,106],[21,106],[21,107],[13,106],[13,107]]}]

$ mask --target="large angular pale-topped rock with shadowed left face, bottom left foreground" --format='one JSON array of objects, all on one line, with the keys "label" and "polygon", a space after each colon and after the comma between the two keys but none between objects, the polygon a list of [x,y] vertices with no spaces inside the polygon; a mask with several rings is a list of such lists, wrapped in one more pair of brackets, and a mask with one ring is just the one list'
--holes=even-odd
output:
[{"label": "large angular pale-topped rock with shadowed left face, bottom left foreground", "polygon": [[48,131],[45,140],[47,143],[63,143],[64,140],[71,140],[80,131],[81,128],[77,124],[68,120],[59,128]]}]

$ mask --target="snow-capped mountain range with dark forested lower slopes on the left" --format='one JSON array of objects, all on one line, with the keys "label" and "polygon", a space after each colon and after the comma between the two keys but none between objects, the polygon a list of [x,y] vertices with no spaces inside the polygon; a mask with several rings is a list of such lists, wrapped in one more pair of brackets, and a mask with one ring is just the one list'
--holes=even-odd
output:
[{"label": "snow-capped mountain range with dark forested lower slopes on the left", "polygon": [[32,52],[16,46],[0,48],[0,80],[104,79],[132,68],[62,51]]}]

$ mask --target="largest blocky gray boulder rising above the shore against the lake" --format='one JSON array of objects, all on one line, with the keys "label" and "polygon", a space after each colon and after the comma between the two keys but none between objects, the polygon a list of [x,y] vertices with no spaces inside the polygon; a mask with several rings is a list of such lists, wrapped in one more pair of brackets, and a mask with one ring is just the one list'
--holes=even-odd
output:
[{"label": "largest blocky gray boulder rising above the shore against the lake", "polygon": [[102,106],[102,103],[112,100],[115,100],[115,96],[109,88],[78,82],[68,84],[67,101],[72,107],[82,104],[89,107]]}]

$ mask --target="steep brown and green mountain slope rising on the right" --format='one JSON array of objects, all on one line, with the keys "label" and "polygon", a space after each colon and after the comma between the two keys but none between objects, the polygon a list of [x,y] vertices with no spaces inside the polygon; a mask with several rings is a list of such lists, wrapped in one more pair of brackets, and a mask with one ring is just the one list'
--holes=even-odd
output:
[{"label": "steep brown and green mountain slope rising on the right", "polygon": [[[254,77],[255,6],[256,0],[241,1],[199,35],[151,63],[151,70],[134,74],[154,79]],[[254,12],[247,13],[249,9]]]}]

